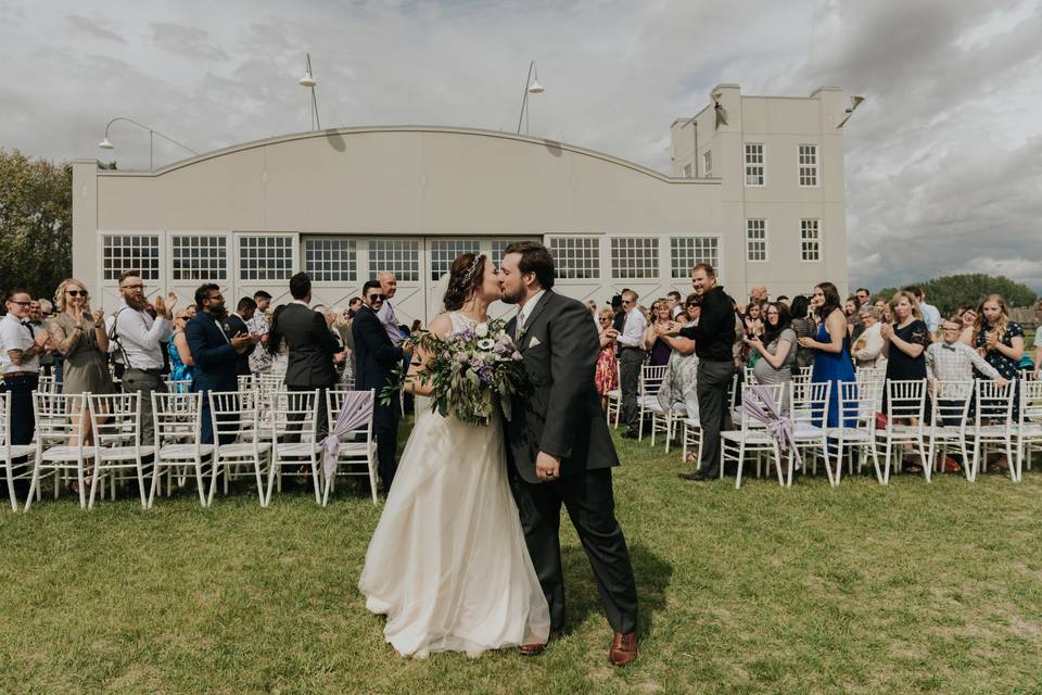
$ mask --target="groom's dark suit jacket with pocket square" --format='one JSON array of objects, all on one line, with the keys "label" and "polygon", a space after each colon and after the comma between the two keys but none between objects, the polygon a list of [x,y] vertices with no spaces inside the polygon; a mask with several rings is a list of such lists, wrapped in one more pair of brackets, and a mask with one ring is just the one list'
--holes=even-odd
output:
[{"label": "groom's dark suit jacket with pocket square", "polygon": [[[516,327],[512,318],[507,331]],[[586,305],[547,290],[525,320],[519,349],[531,386],[513,399],[507,453],[521,478],[539,482],[541,451],[561,457],[561,478],[618,466],[594,381],[600,340]]]}]

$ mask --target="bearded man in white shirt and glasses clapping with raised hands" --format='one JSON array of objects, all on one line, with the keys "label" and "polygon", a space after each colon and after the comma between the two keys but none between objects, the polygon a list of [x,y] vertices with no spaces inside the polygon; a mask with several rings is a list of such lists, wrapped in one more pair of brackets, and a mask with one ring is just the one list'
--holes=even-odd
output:
[{"label": "bearded man in white shirt and glasses clapping with raised hands", "polygon": [[[144,296],[144,282],[137,270],[119,275],[119,308],[107,323],[109,341],[123,357],[123,392],[141,394],[141,442],[152,443],[152,393],[163,390],[163,343],[174,332],[177,295],[156,295],[152,304]],[[154,312],[150,313],[151,309]]]}]

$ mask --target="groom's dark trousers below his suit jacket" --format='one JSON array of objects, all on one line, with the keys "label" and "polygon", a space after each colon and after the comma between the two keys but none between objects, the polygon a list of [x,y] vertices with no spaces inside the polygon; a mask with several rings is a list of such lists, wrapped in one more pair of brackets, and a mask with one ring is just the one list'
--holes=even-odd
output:
[{"label": "groom's dark trousers below his suit jacket", "polygon": [[529,555],[550,607],[550,629],[560,631],[564,627],[559,535],[563,504],[597,578],[608,623],[619,632],[635,632],[637,586],[626,539],[615,520],[611,469],[587,470],[544,483],[525,482],[513,466],[508,469]]}]

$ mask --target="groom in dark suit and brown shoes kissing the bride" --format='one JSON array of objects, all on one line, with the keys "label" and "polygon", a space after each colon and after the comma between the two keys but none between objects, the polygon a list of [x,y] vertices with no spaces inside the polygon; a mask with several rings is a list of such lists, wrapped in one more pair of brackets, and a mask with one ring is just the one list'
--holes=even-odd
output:
[{"label": "groom in dark suit and brown shoes kissing the bride", "polygon": [[[600,409],[594,371],[600,343],[589,309],[556,294],[546,247],[512,243],[499,265],[503,301],[520,305],[507,325],[532,384],[513,401],[507,424],[510,489],[521,514],[529,555],[550,607],[550,631],[564,627],[564,583],[558,531],[561,505],[579,533],[614,639],[608,658],[637,658],[637,589],[626,540],[614,515],[611,468],[619,457]],[[525,656],[546,645],[521,647]]]}]

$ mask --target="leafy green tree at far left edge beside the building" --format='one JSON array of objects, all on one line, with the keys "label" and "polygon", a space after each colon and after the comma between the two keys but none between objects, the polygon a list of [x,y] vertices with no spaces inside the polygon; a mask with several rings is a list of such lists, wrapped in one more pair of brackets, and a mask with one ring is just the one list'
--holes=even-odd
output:
[{"label": "leafy green tree at far left edge beside the building", "polygon": [[73,167],[0,150],[0,290],[52,296],[72,251]]}]

